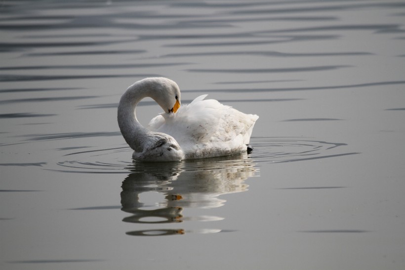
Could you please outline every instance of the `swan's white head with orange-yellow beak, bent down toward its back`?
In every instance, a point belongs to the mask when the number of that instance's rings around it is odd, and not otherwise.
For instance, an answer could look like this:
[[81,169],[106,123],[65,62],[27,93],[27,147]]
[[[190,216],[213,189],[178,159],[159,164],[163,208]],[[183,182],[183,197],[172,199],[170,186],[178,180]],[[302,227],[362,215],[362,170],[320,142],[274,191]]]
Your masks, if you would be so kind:
[[180,89],[175,82],[167,78],[146,78],[150,96],[166,113],[175,113],[180,107]]

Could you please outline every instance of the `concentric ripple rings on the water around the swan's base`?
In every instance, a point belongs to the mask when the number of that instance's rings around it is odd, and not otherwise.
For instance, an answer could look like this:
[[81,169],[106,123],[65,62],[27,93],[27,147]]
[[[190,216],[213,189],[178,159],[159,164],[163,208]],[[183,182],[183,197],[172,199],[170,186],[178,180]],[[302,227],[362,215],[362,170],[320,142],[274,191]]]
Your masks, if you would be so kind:
[[[228,167],[230,163],[232,166],[238,166],[239,163],[243,164],[246,160],[253,163],[283,163],[358,154],[357,152],[345,152],[344,146],[347,145],[345,143],[302,137],[252,137],[250,143],[254,148],[251,154],[170,162],[170,167],[172,170],[179,171],[210,170],[218,169],[221,166]],[[57,162],[57,168],[53,170],[66,173],[125,174],[128,171],[137,172],[156,168],[156,163],[132,161],[132,149],[128,146],[85,149],[83,151],[67,149],[67,153],[61,157],[62,160]]]

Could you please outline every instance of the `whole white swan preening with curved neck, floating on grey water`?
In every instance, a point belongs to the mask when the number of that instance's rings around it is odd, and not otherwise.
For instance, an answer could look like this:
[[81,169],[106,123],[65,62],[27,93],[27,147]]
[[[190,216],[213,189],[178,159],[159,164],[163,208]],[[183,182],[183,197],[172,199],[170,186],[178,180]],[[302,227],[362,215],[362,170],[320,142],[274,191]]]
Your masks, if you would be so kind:
[[[180,90],[167,78],[146,78],[129,86],[118,105],[118,125],[139,161],[179,161],[226,156],[247,150],[257,115],[244,114],[201,95],[181,106]],[[136,119],[135,107],[153,98],[164,113],[147,128]]]

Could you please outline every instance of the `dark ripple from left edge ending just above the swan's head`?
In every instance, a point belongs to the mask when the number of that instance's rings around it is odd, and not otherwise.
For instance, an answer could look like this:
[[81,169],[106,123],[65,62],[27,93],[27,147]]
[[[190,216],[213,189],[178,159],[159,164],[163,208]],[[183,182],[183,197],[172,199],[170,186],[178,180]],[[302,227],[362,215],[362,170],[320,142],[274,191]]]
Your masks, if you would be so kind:
[[0,75],[0,82],[29,82],[51,80],[107,79],[107,78],[162,77],[157,74],[106,74],[106,75]]

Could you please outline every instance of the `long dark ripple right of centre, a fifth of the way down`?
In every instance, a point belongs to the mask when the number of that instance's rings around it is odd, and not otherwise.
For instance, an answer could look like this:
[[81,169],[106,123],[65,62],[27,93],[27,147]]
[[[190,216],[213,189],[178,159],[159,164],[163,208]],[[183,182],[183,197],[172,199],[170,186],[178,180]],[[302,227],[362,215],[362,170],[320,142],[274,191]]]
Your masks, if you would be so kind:
[[195,52],[195,53],[170,53],[160,55],[163,57],[196,57],[196,56],[226,56],[226,55],[258,55],[258,56],[271,56],[271,57],[324,57],[324,56],[357,56],[357,55],[372,55],[370,52],[314,52],[314,53],[287,53],[279,51],[256,51],[256,50],[242,50],[242,51],[210,51],[210,52]]

